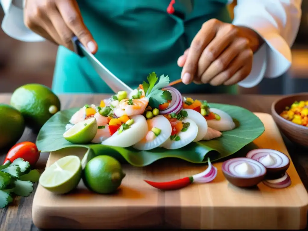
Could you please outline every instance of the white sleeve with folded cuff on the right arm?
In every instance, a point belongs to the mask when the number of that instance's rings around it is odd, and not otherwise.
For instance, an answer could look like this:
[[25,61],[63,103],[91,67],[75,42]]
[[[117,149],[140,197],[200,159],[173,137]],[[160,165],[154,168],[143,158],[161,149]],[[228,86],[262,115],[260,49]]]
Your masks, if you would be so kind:
[[263,77],[276,78],[290,68],[301,5],[302,0],[237,0],[232,24],[255,30],[265,41],[253,56],[250,75],[239,86],[254,87]]

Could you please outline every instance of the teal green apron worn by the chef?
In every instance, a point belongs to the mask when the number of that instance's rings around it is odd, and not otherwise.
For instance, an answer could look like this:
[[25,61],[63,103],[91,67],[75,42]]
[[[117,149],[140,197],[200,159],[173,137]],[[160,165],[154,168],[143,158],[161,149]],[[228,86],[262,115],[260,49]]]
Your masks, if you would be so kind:
[[[186,0],[192,4],[193,0]],[[148,74],[180,79],[177,59],[189,47],[202,23],[211,18],[231,22],[227,0],[194,0],[192,12],[176,0],[177,14],[168,14],[170,0],[78,0],[83,20],[98,43],[95,57],[115,76],[136,88]],[[192,5],[191,5],[192,6]],[[186,5],[187,7],[187,5]],[[235,94],[237,86],[179,83],[182,93]],[[87,59],[60,46],[52,89],[63,93],[113,93]]]

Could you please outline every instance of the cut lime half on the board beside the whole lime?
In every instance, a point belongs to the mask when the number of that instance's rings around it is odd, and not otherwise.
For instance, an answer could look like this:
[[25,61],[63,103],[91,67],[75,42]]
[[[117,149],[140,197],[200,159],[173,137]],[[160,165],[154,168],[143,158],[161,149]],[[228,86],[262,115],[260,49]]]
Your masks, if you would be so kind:
[[65,156],[45,169],[39,178],[39,183],[53,193],[68,193],[77,187],[81,173],[79,157]]

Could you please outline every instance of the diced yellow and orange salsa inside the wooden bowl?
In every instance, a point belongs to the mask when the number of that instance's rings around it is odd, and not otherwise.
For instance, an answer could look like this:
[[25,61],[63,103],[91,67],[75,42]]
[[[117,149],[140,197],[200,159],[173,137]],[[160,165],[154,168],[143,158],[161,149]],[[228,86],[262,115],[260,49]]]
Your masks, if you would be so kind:
[[280,116],[294,124],[308,127],[308,100],[295,101],[291,107],[286,107],[286,110],[282,111]]

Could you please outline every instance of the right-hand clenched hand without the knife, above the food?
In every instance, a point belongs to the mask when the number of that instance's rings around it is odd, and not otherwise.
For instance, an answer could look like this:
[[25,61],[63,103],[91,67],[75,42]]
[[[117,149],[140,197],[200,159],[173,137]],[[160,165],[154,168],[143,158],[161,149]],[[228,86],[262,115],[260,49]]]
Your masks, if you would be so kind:
[[232,85],[245,79],[263,41],[253,30],[211,19],[178,59],[184,84]]

